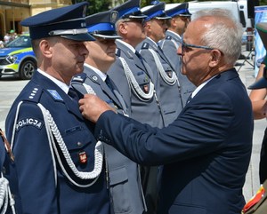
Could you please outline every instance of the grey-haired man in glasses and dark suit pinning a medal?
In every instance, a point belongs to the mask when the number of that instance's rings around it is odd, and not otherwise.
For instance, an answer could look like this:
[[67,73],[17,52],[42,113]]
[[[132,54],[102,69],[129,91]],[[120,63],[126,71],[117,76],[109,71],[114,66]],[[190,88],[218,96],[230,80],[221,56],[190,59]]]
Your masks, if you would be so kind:
[[136,162],[164,164],[160,214],[239,214],[250,161],[253,114],[234,68],[243,30],[225,10],[198,12],[178,53],[182,73],[197,89],[174,123],[163,129],[117,115],[87,95],[82,114],[97,122],[94,135]]

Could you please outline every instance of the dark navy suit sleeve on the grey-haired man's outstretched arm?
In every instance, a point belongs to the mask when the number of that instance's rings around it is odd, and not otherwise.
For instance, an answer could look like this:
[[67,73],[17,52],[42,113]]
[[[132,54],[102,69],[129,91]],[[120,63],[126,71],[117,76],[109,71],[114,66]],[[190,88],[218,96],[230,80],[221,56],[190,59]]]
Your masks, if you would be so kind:
[[95,134],[135,162],[158,165],[217,151],[233,119],[231,99],[219,91],[192,99],[174,123],[161,130],[106,112]]

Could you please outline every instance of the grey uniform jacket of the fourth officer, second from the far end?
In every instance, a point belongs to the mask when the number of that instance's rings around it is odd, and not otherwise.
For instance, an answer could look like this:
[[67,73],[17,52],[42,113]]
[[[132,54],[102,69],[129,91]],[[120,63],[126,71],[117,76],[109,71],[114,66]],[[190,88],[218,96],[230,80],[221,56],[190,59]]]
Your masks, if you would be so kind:
[[157,53],[160,63],[166,73],[175,73],[174,67],[172,67],[171,63],[168,61],[168,59],[166,59],[165,54],[158,49],[158,45],[149,37],[143,40],[141,44],[138,44],[136,50],[142,54],[142,57],[146,60],[146,62],[150,65],[151,70],[154,72],[155,78],[157,78],[157,80],[154,80],[154,83],[156,86],[156,91],[159,92],[158,99],[160,100],[162,112],[164,114],[164,123],[165,126],[167,126],[168,124],[172,123],[182,111],[183,105],[181,87],[178,81],[171,85],[163,80],[161,75],[158,73],[158,66],[155,63],[155,59],[150,50],[153,50]]

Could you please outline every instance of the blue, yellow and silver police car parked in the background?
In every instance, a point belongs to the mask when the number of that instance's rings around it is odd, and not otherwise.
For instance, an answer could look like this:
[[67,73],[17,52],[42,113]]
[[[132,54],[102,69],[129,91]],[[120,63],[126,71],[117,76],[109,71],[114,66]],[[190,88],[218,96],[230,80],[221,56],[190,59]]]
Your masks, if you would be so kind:
[[13,75],[28,80],[36,70],[36,56],[28,34],[23,34],[0,49],[0,76]]

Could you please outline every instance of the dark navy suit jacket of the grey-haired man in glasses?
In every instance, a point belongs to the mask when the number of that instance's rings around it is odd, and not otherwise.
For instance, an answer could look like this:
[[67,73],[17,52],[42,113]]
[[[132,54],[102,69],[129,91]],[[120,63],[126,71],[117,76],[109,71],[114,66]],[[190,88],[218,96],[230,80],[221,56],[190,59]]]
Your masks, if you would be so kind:
[[164,164],[158,213],[239,214],[253,124],[247,90],[232,68],[206,83],[166,128],[108,111],[95,136],[136,162]]

